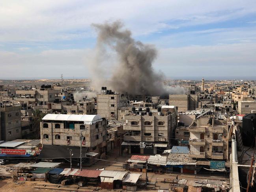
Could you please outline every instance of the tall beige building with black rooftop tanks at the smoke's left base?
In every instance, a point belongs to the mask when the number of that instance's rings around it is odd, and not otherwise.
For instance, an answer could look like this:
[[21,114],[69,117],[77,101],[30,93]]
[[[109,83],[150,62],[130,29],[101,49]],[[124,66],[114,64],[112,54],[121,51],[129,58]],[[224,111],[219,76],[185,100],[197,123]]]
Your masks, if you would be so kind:
[[97,114],[107,119],[118,120],[118,108],[127,106],[127,97],[116,94],[106,87],[102,87],[101,94],[97,94]]

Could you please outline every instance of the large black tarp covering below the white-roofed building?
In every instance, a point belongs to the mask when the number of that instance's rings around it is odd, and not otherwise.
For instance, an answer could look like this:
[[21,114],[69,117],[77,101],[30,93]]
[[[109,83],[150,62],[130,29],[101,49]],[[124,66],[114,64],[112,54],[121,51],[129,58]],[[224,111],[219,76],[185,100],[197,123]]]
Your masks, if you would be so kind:
[[[82,157],[86,157],[86,148],[82,147]],[[37,158],[41,159],[64,159],[70,158],[69,149],[72,149],[72,158],[80,158],[80,147],[63,145],[43,145],[42,151]]]

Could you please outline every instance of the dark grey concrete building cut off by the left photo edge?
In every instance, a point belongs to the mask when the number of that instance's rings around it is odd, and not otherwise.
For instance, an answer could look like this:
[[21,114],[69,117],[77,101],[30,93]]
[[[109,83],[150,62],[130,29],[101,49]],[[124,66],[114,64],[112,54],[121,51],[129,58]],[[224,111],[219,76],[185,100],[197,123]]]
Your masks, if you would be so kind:
[[21,138],[21,106],[1,103],[1,140],[11,141]]

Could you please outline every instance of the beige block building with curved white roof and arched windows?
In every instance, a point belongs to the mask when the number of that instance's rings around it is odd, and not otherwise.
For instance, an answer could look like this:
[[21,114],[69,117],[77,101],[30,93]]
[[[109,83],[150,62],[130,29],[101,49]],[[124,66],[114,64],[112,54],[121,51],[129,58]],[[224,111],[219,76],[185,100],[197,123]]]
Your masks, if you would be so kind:
[[80,146],[90,152],[105,153],[107,120],[100,115],[47,114],[41,121],[41,143],[46,145]]

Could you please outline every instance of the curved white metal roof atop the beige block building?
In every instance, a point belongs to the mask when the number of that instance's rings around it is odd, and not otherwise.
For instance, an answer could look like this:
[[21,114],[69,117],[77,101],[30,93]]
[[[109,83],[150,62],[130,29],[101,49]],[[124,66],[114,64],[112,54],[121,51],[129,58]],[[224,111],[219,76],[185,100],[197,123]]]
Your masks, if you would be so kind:
[[53,121],[84,121],[86,125],[92,125],[98,121],[102,121],[102,117],[97,115],[68,115],[68,114],[47,114],[42,120]]

